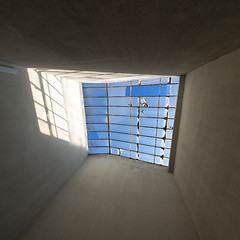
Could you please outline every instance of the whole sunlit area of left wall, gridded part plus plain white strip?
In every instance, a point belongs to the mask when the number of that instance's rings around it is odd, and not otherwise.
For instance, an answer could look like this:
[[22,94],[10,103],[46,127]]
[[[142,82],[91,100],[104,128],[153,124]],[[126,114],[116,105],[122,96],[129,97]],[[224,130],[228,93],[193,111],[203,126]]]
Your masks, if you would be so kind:
[[87,148],[81,85],[33,69],[28,75],[40,132]]

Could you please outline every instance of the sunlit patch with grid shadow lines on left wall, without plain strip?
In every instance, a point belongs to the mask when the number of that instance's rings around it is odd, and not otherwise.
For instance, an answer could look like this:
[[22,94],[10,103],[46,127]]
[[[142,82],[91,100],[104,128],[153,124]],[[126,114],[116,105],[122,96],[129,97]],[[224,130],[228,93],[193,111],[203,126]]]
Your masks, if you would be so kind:
[[32,69],[28,75],[40,132],[70,142],[60,78]]

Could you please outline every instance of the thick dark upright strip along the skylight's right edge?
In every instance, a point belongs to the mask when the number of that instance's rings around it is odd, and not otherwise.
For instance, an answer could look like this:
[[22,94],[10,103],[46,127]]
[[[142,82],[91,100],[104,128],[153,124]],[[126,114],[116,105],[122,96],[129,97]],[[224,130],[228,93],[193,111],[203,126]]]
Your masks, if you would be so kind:
[[174,165],[175,165],[177,141],[178,141],[179,127],[180,127],[180,120],[181,120],[181,113],[182,113],[183,94],[184,94],[184,87],[185,87],[185,78],[186,78],[185,75],[180,76],[179,87],[178,87],[177,106],[176,106],[176,113],[175,113],[175,120],[174,120],[174,131],[173,131],[173,137],[172,137],[172,145],[171,145],[169,169],[168,169],[170,173],[173,173]]

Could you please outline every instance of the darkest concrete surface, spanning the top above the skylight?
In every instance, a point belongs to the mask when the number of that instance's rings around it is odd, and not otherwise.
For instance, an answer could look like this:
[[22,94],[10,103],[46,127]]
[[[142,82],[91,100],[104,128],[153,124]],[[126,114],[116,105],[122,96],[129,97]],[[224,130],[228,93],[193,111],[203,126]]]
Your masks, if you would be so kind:
[[240,1],[9,0],[0,59],[34,68],[183,74],[240,46]]

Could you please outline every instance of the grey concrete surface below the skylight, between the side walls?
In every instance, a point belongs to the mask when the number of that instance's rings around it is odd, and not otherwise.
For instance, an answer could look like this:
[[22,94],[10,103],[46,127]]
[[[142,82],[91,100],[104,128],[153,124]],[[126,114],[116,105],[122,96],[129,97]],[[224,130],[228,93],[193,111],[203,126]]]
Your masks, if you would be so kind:
[[197,240],[172,174],[148,163],[90,156],[21,240]]

